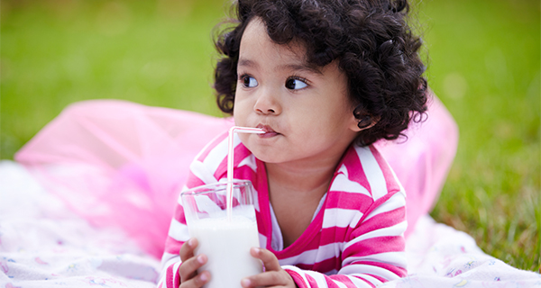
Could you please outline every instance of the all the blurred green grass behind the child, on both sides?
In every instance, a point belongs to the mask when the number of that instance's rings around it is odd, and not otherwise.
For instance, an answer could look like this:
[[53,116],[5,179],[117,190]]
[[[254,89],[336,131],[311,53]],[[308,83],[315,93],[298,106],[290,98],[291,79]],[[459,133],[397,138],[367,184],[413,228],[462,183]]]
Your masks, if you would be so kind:
[[[540,9],[536,0],[416,5],[432,89],[460,144],[432,216],[488,254],[539,271]],[[116,98],[220,115],[217,0],[2,1],[0,158],[69,103]]]

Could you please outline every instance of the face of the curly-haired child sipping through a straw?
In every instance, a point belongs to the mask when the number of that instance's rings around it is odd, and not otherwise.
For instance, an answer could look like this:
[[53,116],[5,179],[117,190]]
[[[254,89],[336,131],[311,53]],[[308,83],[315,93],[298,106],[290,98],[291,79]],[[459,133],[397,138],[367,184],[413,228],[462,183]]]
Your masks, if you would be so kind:
[[335,62],[307,67],[304,54],[302,45],[272,42],[257,18],[243,33],[234,121],[268,131],[239,134],[244,146],[264,162],[337,161],[359,131],[347,77]]

